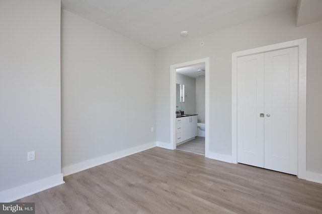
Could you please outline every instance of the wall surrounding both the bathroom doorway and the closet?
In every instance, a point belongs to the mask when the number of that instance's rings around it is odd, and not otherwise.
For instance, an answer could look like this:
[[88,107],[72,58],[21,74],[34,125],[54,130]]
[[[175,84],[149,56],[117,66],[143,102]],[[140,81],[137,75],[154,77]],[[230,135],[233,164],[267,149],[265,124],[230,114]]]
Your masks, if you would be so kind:
[[322,22],[296,28],[295,14],[274,14],[157,51],[156,140],[170,143],[170,65],[209,57],[209,150],[231,155],[231,53],[307,38],[307,170],[322,173]]

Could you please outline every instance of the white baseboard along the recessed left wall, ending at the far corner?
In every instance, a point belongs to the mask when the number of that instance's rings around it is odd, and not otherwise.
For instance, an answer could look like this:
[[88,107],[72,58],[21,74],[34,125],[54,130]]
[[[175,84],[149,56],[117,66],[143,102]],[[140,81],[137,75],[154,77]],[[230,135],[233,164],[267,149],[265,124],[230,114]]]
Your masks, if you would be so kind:
[[135,146],[135,147],[128,148],[128,149],[125,149],[122,151],[114,152],[111,154],[103,155],[103,156],[96,157],[96,158],[93,158],[90,160],[86,160],[83,162],[79,162],[79,163],[65,166],[61,169],[61,171],[64,176],[67,176],[67,175],[70,175],[70,174],[73,174],[73,173],[76,173],[79,171],[83,171],[85,169],[92,168],[94,166],[101,165],[103,163],[107,163],[107,162],[110,162],[110,161],[113,161],[113,160],[116,160],[116,159],[119,159],[122,157],[126,157],[128,155],[131,155],[131,154],[134,154],[134,153],[146,150],[146,149],[153,148],[153,147],[155,147],[155,145],[156,145],[155,142],[151,142],[151,143],[146,143],[143,145]]

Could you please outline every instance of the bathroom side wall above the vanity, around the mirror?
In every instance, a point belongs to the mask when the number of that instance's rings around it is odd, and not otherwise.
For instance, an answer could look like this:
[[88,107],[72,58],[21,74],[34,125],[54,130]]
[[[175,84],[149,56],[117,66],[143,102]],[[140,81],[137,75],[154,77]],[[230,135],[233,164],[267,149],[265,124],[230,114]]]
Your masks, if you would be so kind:
[[186,114],[196,113],[196,79],[182,74],[176,74],[176,83],[185,85],[185,102],[181,110]]

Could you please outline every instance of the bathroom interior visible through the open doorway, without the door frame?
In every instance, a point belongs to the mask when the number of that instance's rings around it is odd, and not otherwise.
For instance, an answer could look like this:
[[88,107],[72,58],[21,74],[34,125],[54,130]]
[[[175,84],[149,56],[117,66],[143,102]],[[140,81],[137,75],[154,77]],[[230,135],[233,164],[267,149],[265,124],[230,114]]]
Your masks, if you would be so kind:
[[[205,64],[199,64],[176,69],[176,112],[183,117],[189,116],[190,129],[189,139],[176,141],[178,150],[205,154]],[[193,119],[193,118],[196,119]],[[176,136],[178,130],[182,130],[181,120],[176,124]],[[179,126],[178,126],[179,125]],[[179,133],[177,138],[181,138]]]

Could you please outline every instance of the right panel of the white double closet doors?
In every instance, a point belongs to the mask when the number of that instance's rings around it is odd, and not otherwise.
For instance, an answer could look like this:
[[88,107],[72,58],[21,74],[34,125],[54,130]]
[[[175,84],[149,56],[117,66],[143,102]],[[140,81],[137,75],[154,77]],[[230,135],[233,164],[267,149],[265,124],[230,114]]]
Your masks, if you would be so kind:
[[265,53],[264,167],[297,174],[298,48]]

